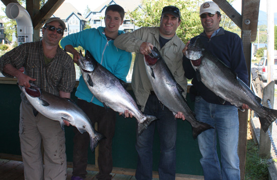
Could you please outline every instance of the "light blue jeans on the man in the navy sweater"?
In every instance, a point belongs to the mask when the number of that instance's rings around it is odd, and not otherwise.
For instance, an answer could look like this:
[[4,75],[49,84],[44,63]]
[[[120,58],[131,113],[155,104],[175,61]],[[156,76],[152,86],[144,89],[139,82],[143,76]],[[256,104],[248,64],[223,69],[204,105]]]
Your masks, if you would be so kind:
[[[200,163],[205,180],[240,179],[238,138],[239,118],[235,106],[207,103],[201,97],[195,99],[195,114],[198,121],[212,125],[198,135],[202,155]],[[221,150],[221,166],[217,154],[217,134]]]

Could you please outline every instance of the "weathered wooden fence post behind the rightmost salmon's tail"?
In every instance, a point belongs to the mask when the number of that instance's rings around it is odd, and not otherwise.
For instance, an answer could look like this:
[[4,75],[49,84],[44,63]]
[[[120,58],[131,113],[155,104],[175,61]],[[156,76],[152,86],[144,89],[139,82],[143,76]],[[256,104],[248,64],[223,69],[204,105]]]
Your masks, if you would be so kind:
[[[264,107],[268,107],[267,100],[270,101],[271,106],[274,105],[274,85],[275,81],[271,81],[263,88],[263,98],[262,98],[262,105]],[[272,125],[269,126],[270,133],[272,132]],[[260,141],[259,141],[259,155],[261,157],[268,157],[270,155],[271,149],[271,142],[268,136],[268,133],[263,132],[260,128]]]

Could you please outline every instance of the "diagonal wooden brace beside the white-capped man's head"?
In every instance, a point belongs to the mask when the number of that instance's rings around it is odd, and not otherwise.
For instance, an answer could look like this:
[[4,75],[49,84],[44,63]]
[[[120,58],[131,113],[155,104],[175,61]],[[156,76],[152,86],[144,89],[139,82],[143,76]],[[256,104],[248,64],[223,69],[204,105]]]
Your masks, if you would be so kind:
[[242,16],[226,0],[213,1],[240,29],[242,29]]

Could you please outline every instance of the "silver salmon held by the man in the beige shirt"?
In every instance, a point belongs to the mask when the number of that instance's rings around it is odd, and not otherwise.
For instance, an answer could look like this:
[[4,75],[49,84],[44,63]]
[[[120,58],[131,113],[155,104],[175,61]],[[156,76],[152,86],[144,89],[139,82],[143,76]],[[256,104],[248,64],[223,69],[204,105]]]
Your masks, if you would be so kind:
[[182,96],[184,89],[176,82],[171,71],[156,47],[152,54],[145,55],[145,67],[153,90],[159,99],[175,115],[182,112],[185,119],[192,126],[192,137],[196,137],[203,131],[213,128],[211,125],[202,123],[195,119],[195,114],[189,108],[185,98]]

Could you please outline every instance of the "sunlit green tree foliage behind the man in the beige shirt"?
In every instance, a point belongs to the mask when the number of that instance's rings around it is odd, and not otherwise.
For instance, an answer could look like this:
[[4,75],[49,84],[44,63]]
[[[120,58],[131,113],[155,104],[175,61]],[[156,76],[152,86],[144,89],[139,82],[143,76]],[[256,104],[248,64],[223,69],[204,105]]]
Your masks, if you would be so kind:
[[[229,0],[232,3],[234,0]],[[128,15],[134,20],[134,24],[138,27],[159,27],[163,7],[174,5],[181,11],[181,23],[178,27],[177,36],[186,43],[189,39],[200,34],[203,31],[200,18],[199,8],[204,0],[143,0],[142,6]],[[232,21],[221,11],[221,26],[227,29],[231,28]]]

